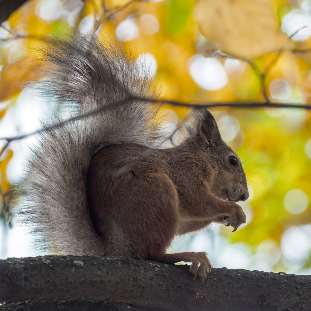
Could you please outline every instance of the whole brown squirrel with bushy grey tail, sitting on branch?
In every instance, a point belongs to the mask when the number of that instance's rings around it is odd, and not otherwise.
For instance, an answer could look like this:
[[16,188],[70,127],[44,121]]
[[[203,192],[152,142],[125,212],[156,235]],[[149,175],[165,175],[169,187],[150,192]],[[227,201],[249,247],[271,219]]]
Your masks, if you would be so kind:
[[[233,231],[246,222],[235,203],[248,198],[241,160],[202,108],[178,146],[159,148],[154,81],[108,41],[73,35],[46,52],[40,89],[73,118],[39,139],[17,190],[24,220],[54,254],[185,261],[205,279],[212,268],[206,253],[166,250],[176,235],[212,222]],[[55,114],[49,122],[62,121]]]

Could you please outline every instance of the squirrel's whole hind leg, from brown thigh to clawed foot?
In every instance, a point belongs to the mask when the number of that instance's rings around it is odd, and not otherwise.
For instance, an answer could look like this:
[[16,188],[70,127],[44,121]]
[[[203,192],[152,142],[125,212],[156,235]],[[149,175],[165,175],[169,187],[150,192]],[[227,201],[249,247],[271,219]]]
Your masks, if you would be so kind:
[[190,273],[204,279],[211,271],[206,253],[165,253],[178,231],[179,201],[169,177],[154,169],[156,172],[132,169],[123,181],[119,179],[114,197],[122,208],[109,223],[124,219],[122,227],[133,256],[164,263],[192,262]]

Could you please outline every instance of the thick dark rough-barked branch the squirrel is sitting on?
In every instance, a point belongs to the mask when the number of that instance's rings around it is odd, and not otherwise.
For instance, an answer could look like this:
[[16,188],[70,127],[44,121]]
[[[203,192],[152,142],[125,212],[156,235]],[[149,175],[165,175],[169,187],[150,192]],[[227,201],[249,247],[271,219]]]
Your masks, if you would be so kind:
[[311,276],[217,268],[202,282],[187,266],[131,258],[8,258],[0,301],[1,310],[301,311],[311,310]]

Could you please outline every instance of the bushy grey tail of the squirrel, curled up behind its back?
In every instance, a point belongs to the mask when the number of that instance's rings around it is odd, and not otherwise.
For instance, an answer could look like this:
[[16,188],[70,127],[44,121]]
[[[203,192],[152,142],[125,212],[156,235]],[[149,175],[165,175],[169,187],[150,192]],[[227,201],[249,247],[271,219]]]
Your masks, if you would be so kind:
[[49,48],[49,75],[40,82],[41,90],[72,115],[104,110],[46,131],[19,191],[49,251],[102,255],[103,240],[87,209],[85,175],[101,146],[155,144],[160,135],[157,108],[132,100],[150,96],[152,81],[143,80],[134,61],[111,41],[75,36]]

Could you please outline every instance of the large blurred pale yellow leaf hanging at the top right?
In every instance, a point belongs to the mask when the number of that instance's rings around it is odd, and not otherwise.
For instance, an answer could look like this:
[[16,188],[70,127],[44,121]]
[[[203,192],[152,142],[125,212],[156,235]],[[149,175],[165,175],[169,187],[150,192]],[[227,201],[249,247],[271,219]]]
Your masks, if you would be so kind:
[[202,34],[227,54],[252,58],[289,45],[278,30],[271,0],[199,0]]

